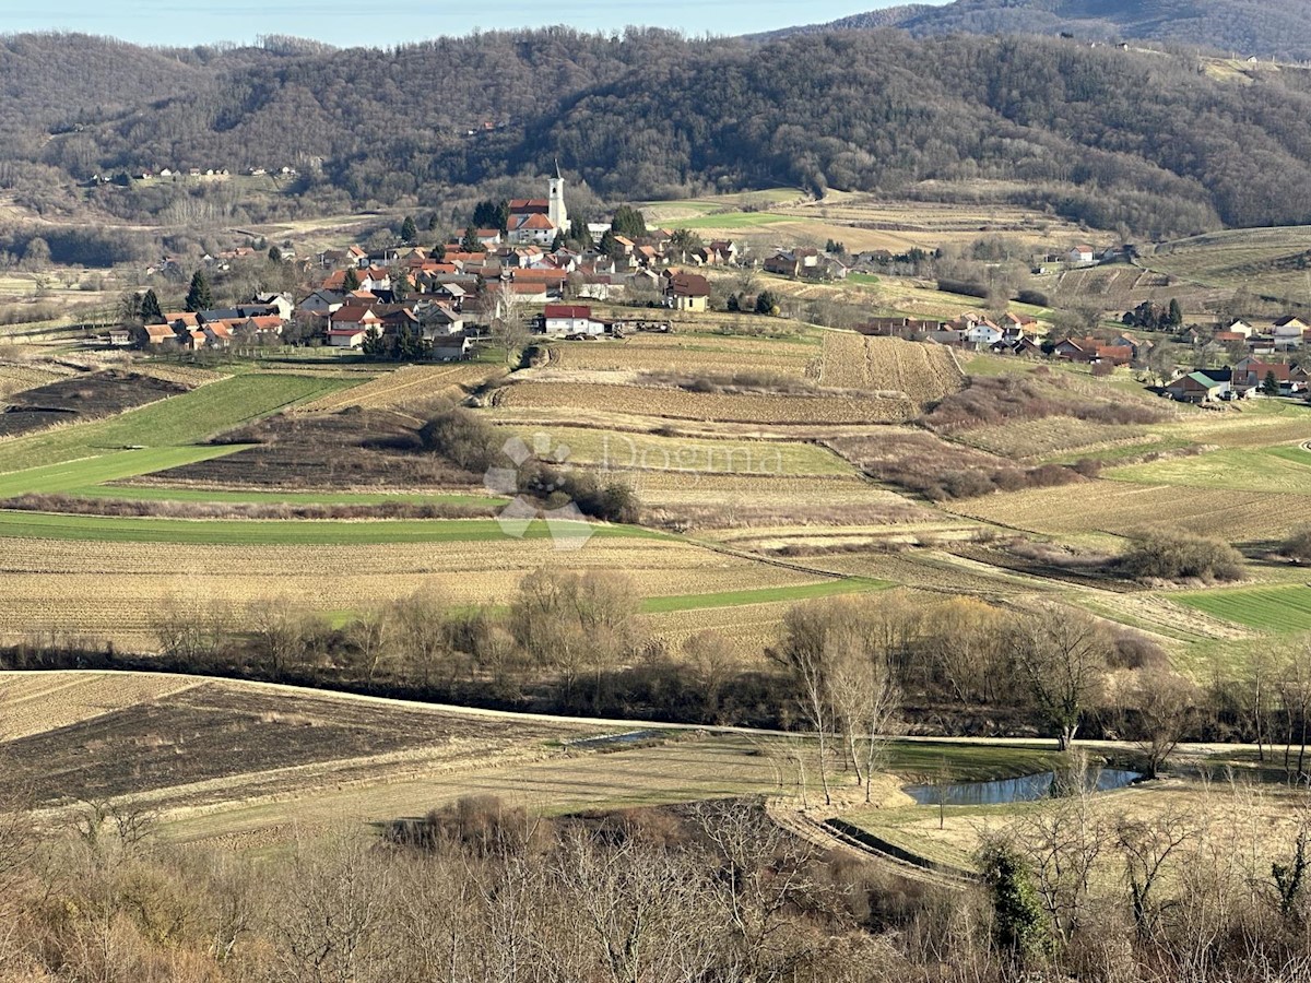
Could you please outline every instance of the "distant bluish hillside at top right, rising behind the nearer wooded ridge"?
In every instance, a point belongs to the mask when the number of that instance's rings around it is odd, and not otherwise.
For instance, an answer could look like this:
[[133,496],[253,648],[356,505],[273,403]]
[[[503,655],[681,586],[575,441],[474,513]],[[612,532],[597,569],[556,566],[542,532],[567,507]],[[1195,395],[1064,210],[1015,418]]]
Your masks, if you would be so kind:
[[[956,0],[907,4],[801,31],[902,28],[929,34],[1074,34],[1088,41],[1143,39],[1242,55],[1306,60],[1306,0]],[[777,31],[779,35],[796,31]]]

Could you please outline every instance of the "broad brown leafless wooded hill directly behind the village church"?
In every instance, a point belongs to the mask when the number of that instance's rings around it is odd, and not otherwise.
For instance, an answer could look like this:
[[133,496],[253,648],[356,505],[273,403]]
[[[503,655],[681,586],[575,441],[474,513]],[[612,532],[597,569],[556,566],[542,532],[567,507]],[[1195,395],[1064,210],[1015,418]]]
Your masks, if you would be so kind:
[[[20,35],[0,42],[0,189],[50,218],[437,207],[523,193],[558,159],[583,211],[579,178],[608,201],[779,183],[988,194],[1142,236],[1311,222],[1311,72],[1214,79],[1189,56],[1058,38],[557,28],[160,51]],[[75,186],[286,165],[298,176],[260,198],[239,182]]]

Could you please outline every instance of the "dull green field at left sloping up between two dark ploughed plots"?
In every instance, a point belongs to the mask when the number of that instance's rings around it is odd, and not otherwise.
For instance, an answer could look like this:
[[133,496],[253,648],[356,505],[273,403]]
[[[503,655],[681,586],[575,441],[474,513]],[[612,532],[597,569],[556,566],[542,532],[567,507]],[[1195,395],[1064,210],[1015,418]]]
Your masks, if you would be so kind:
[[0,472],[93,457],[125,447],[195,444],[246,421],[357,384],[358,380],[299,375],[239,375],[110,419],[73,423],[0,443]]

